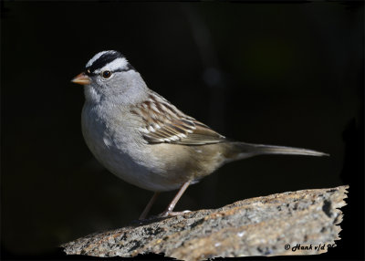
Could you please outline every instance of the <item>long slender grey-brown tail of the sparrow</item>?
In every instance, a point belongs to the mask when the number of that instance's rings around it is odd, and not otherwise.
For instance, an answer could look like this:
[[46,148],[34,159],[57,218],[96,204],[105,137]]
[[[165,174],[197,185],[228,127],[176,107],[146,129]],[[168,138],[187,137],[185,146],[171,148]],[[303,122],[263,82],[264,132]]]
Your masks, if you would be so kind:
[[263,144],[252,144],[245,142],[232,142],[231,145],[235,147],[235,156],[232,155],[232,160],[240,160],[256,155],[264,154],[285,154],[285,155],[305,155],[305,156],[329,156],[329,154],[313,151],[308,149],[274,146],[274,145],[263,145]]

